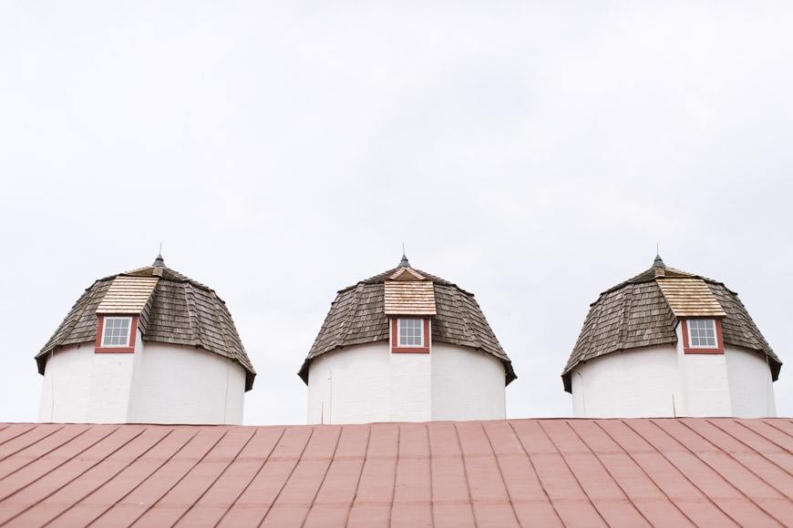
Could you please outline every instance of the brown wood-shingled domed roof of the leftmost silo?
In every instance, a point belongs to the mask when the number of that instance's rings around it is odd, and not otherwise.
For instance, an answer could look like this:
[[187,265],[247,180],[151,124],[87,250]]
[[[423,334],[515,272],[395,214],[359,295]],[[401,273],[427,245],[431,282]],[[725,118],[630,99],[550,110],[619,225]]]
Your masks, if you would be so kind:
[[[133,290],[136,280],[148,284],[148,289]],[[149,267],[98,279],[86,289],[44,348],[36,354],[39,373],[44,374],[51,350],[97,339],[99,305],[103,301],[104,304],[118,305],[118,299],[111,300],[108,296],[114,282],[117,290],[118,283],[123,282],[121,288],[138,294],[138,299],[133,300],[139,300],[139,330],[144,341],[194,346],[235,360],[246,372],[245,391],[252,389],[256,371],[245,353],[226,303],[213,289],[166,268],[161,256]],[[139,295],[141,290],[144,291],[143,297]]]

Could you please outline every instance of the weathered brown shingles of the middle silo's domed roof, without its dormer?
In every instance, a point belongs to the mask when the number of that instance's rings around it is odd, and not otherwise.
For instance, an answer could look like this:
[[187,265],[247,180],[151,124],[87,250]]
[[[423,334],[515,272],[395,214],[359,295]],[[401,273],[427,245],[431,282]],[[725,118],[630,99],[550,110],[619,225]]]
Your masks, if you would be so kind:
[[517,378],[510,358],[501,349],[499,340],[474,299],[474,294],[448,280],[411,268],[407,258],[403,256],[397,268],[388,269],[338,291],[322,329],[319,330],[314,345],[298,372],[305,383],[308,383],[308,367],[311,361],[325,352],[388,340],[386,282],[390,282],[401,270],[417,273],[432,283],[437,312],[432,319],[433,342],[483,350],[504,364],[505,384],[509,385]]

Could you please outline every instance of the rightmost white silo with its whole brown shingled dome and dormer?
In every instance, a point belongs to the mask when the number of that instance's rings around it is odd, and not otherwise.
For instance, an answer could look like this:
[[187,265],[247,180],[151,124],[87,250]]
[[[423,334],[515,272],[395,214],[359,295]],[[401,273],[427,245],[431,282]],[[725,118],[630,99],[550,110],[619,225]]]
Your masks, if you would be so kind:
[[750,418],[781,366],[736,292],[656,256],[592,303],[561,379],[576,417]]

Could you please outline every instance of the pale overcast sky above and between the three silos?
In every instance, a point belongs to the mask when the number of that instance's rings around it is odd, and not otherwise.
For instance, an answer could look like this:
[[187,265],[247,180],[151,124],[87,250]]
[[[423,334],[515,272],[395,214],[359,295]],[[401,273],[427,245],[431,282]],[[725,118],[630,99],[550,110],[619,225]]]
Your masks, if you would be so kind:
[[789,2],[0,0],[0,421],[94,280],[215,289],[258,376],[245,423],[304,423],[337,289],[397,265],[476,294],[518,380],[561,370],[599,293],[652,265],[723,281],[786,364]]

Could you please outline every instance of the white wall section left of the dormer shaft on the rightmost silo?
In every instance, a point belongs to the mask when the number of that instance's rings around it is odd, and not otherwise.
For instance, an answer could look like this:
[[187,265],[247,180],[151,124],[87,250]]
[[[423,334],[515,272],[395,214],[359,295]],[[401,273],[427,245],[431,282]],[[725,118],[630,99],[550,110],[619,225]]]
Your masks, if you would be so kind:
[[576,418],[677,415],[680,388],[674,345],[633,349],[589,360],[571,376]]

